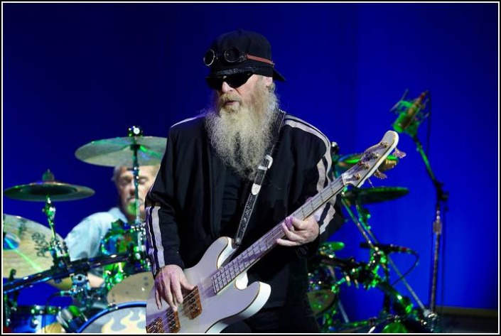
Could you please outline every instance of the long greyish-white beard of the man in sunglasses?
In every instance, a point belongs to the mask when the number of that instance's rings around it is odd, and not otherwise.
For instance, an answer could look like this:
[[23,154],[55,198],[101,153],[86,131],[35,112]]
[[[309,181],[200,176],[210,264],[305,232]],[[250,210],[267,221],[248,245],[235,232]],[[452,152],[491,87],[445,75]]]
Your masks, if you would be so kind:
[[254,179],[273,137],[271,121],[278,106],[274,85],[269,90],[258,83],[251,101],[251,106],[241,102],[237,108],[210,109],[205,123],[212,146],[222,161],[249,180]]

